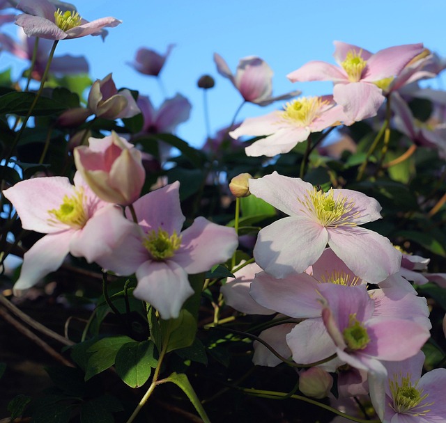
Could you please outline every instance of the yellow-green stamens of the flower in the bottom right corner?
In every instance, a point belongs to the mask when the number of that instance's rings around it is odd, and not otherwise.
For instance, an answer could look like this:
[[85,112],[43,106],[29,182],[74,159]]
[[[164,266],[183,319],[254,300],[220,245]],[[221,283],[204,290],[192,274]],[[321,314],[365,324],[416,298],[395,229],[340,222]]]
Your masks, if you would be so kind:
[[389,380],[390,392],[392,393],[393,404],[389,404],[397,413],[406,413],[413,416],[424,416],[434,404],[432,402],[424,402],[429,394],[423,394],[423,390],[417,388],[418,382],[412,383],[410,375],[401,376],[401,382],[398,381],[398,375],[394,374],[393,381]]

